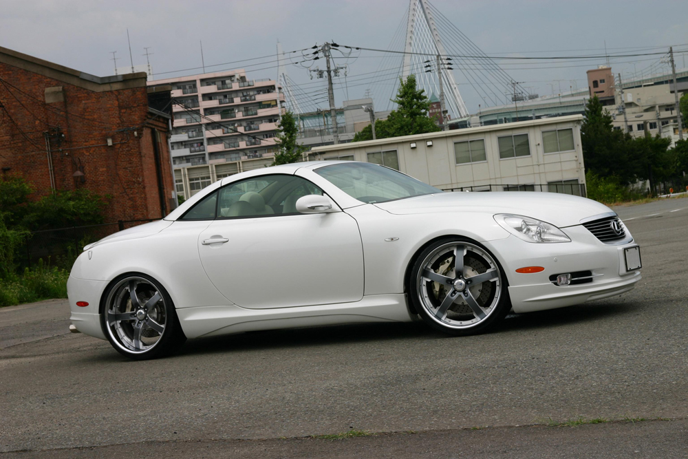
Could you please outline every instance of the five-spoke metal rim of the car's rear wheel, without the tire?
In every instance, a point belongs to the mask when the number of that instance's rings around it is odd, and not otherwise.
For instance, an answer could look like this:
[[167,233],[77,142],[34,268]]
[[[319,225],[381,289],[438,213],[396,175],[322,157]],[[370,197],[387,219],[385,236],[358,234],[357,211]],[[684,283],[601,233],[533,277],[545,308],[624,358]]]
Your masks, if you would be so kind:
[[155,348],[169,323],[168,316],[160,288],[143,277],[121,279],[105,303],[105,328],[111,341],[127,353]]

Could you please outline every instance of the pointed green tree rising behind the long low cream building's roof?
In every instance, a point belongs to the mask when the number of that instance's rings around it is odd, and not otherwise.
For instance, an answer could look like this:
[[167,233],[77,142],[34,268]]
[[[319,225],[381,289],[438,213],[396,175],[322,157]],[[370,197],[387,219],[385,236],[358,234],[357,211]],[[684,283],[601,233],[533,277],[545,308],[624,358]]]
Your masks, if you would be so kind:
[[[413,136],[440,130],[435,120],[428,116],[430,101],[425,95],[425,90],[418,89],[415,75],[409,75],[406,81],[399,78],[399,90],[392,102],[396,103],[396,110],[391,111],[387,120],[375,122],[376,138]],[[356,133],[353,141],[372,140],[372,138],[372,128],[368,125]]]

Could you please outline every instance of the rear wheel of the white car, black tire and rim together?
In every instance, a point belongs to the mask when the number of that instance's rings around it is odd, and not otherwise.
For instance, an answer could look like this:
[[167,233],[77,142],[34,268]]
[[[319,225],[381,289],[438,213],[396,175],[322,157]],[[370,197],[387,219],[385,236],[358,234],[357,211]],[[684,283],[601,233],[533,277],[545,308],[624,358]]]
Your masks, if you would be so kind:
[[113,348],[134,360],[156,359],[186,341],[167,290],[140,273],[115,279],[105,290],[100,324]]

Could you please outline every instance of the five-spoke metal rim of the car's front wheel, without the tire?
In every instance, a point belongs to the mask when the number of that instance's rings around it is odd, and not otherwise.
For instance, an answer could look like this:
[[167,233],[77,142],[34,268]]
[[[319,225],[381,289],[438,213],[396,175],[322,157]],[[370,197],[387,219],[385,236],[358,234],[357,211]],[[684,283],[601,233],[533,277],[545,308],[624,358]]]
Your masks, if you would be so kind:
[[416,274],[425,316],[442,328],[475,328],[495,314],[502,274],[493,257],[470,242],[447,242],[428,253]]

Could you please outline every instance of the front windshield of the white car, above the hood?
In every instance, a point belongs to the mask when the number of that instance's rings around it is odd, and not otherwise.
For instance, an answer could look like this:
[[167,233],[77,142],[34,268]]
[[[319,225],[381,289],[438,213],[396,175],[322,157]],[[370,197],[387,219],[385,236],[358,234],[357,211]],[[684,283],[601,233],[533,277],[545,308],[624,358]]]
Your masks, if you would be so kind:
[[352,198],[368,204],[442,193],[442,190],[434,186],[378,164],[365,162],[332,164],[332,166],[315,169],[315,173]]

